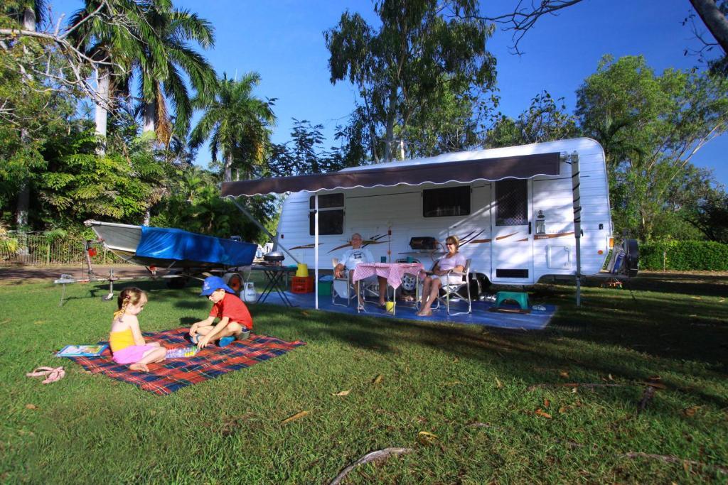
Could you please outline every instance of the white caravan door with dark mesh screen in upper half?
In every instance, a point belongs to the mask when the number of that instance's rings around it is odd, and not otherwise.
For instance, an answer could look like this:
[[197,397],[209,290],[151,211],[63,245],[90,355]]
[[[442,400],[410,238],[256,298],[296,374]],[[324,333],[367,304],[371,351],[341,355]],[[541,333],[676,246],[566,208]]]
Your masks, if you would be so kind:
[[491,281],[531,283],[534,273],[531,181],[506,179],[493,186]]

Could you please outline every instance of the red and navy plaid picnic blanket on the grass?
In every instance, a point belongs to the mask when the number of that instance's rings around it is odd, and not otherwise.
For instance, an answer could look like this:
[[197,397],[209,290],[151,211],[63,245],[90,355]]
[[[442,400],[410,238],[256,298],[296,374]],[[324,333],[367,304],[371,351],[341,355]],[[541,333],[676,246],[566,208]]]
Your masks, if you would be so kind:
[[[159,342],[166,348],[178,348],[190,345],[188,331],[187,328],[179,328],[164,332],[144,332],[144,337],[149,341]],[[226,347],[211,344],[194,357],[173,358],[159,364],[149,364],[149,372],[130,371],[129,366],[116,364],[111,360],[111,351],[108,349],[98,357],[69,358],[93,374],[106,374],[112,379],[129,382],[143,390],[165,396],[187,385],[281,356],[300,345],[306,345],[306,342],[286,342],[266,335],[250,334],[250,339],[236,340]]]

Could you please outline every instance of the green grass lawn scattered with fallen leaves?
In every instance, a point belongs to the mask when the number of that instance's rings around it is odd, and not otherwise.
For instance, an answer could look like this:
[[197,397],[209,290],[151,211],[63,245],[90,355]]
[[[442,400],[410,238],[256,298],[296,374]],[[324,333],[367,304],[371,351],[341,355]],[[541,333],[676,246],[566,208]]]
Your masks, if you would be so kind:
[[[199,288],[139,286],[145,331],[209,310]],[[0,284],[0,482],[328,483],[394,446],[412,451],[345,481],[726,482],[728,276],[634,286],[587,287],[581,308],[538,286],[559,307],[543,332],[251,305],[256,333],[307,345],[159,397],[52,356],[106,338],[106,286],[70,285],[59,308],[57,286]],[[25,377],[49,365],[66,377]]]

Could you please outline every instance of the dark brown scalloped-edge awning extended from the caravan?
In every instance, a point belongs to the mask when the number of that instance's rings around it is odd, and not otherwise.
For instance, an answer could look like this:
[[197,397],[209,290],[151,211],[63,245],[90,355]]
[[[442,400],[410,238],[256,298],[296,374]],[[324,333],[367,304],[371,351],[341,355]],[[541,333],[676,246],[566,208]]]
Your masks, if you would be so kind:
[[256,196],[339,188],[392,187],[395,185],[471,183],[476,180],[529,179],[537,175],[559,175],[560,153],[508,156],[496,159],[395,164],[328,174],[272,177],[223,183],[223,197]]

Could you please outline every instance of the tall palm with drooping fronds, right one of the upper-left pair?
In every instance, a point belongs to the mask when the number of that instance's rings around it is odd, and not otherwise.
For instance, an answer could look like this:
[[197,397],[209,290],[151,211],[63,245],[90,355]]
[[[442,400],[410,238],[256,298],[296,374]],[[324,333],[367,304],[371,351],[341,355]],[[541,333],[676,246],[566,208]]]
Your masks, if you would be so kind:
[[[189,77],[197,92],[213,88],[217,81],[212,66],[186,43],[195,41],[203,49],[213,47],[213,26],[188,10],[173,9],[169,0],[159,0],[149,8],[146,21],[159,39],[144,49],[144,56],[134,65],[141,79],[143,131],[156,131],[157,140],[167,145],[172,124],[165,95],[175,106],[175,131],[186,135],[192,105],[182,74]],[[154,52],[155,48],[161,52]]]

